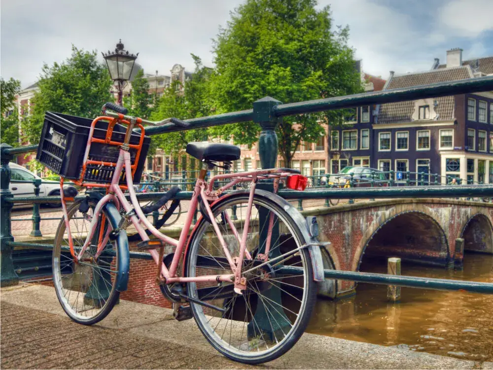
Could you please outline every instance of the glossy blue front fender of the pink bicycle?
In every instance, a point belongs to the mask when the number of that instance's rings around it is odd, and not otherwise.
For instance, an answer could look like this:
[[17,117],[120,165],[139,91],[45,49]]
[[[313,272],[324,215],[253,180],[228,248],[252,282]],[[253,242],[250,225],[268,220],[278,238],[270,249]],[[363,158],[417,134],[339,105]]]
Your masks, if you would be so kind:
[[[103,198],[103,194],[98,191],[88,191],[87,194],[91,200],[96,203]],[[113,202],[106,203],[103,208],[106,210],[106,215],[108,221],[111,223],[111,227],[115,229],[118,227],[121,215],[118,212],[115,204]],[[118,236],[116,237],[116,248],[118,248],[118,273],[116,274],[116,290],[118,292],[123,292],[127,290],[128,277],[130,271],[130,254],[128,247],[127,232],[125,230],[120,230]]]

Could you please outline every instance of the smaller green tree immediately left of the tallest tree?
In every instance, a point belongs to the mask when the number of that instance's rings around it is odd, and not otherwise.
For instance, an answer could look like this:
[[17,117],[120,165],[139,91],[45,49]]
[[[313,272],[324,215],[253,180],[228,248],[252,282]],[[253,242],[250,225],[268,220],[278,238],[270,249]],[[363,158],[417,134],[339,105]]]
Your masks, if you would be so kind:
[[[212,70],[204,67],[198,56],[191,55],[194,59],[195,70],[190,80],[185,83],[183,93],[177,92],[181,87],[180,82],[173,81],[164,91],[156,110],[151,114],[153,120],[167,117],[187,119],[211,114],[212,100],[209,77]],[[207,136],[207,129],[197,129],[154,136],[152,140],[166,153],[172,154],[183,150],[189,142],[207,140]]]

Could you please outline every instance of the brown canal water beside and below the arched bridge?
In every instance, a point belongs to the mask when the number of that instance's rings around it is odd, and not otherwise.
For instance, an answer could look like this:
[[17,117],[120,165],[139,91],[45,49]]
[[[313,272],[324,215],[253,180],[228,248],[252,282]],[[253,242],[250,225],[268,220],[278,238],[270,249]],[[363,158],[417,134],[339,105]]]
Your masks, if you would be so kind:
[[[387,262],[364,260],[361,271],[387,273]],[[466,253],[463,270],[403,261],[402,275],[493,283],[493,256]],[[319,298],[307,332],[493,361],[493,295],[401,288],[400,303],[388,303],[387,286],[359,283],[350,298]]]

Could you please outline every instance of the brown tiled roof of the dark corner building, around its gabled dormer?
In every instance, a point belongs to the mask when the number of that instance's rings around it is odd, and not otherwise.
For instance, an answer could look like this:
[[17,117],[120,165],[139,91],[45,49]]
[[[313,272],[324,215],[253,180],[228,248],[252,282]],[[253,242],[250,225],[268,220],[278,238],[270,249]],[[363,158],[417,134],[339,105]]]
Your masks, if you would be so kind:
[[[427,85],[437,82],[455,81],[471,77],[471,70],[468,66],[393,75],[390,77],[386,90]],[[438,105],[436,106],[435,111],[439,115],[440,120],[454,119],[454,97],[444,96],[436,98],[436,100]],[[378,112],[377,123],[411,122],[411,117],[414,113],[414,106],[414,100],[382,104]]]

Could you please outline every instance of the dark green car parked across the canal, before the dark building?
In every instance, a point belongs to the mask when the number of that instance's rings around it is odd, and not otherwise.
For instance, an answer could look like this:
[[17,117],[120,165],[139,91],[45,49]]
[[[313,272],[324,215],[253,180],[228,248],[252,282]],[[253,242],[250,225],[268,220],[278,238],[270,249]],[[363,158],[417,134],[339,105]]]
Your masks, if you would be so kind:
[[384,172],[375,168],[352,166],[346,166],[339,173],[330,175],[329,185],[342,187],[350,184],[352,180],[352,186],[354,187],[369,187],[372,186],[372,179],[373,186],[388,186],[387,177]]

